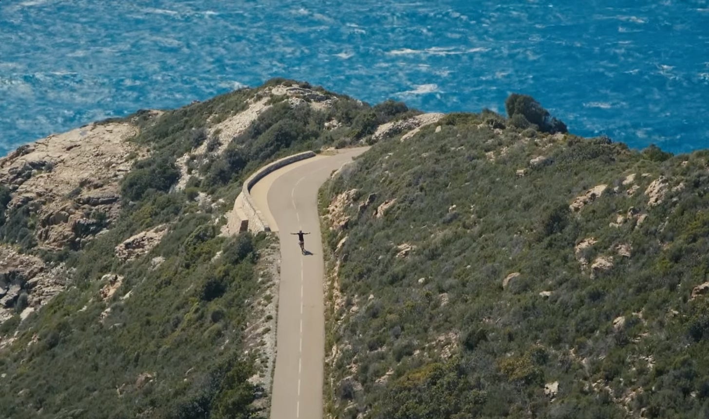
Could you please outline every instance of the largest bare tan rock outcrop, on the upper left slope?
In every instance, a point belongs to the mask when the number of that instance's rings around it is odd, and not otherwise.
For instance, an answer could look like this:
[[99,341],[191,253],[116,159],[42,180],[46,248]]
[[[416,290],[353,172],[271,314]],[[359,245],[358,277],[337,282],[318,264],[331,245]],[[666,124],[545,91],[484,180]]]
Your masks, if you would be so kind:
[[119,181],[143,153],[130,123],[92,123],[23,145],[0,159],[0,184],[12,191],[9,212],[38,220],[40,247],[79,247],[120,210]]

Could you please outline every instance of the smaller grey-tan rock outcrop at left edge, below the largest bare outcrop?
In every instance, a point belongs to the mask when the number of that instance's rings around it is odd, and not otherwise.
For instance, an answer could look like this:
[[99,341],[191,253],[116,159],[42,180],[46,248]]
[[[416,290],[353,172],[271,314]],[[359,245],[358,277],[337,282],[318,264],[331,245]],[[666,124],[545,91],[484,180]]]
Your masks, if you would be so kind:
[[63,265],[50,267],[38,257],[0,245],[0,323],[16,312],[44,306],[66,282]]

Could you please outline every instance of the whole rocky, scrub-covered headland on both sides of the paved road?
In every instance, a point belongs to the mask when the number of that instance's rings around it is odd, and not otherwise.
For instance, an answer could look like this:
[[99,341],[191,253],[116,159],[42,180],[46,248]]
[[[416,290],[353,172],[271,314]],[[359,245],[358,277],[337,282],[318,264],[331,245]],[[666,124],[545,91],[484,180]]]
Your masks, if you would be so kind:
[[0,413],[269,414],[279,257],[242,182],[367,143],[320,191],[333,418],[709,414],[709,152],[579,138],[528,96],[370,106],[274,79],[0,159]]

